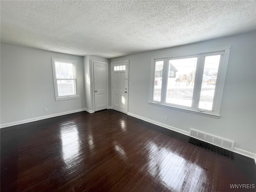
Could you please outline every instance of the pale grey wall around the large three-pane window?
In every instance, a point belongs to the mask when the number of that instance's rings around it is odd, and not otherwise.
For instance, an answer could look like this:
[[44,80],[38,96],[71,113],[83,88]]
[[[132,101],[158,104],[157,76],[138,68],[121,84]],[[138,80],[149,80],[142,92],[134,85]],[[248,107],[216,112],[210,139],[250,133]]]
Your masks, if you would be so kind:
[[[148,104],[151,57],[232,46],[219,119]],[[130,60],[128,112],[182,131],[201,130],[235,141],[256,153],[256,32],[155,50],[120,58]],[[168,121],[164,120],[168,116]]]

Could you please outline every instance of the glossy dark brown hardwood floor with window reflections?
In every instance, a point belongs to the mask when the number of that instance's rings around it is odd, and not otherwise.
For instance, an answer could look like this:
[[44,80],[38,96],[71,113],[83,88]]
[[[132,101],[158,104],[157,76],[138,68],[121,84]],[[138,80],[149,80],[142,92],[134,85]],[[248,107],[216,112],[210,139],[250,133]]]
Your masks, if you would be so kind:
[[230,189],[256,184],[253,159],[188,140],[114,110],[2,128],[1,191],[255,191]]

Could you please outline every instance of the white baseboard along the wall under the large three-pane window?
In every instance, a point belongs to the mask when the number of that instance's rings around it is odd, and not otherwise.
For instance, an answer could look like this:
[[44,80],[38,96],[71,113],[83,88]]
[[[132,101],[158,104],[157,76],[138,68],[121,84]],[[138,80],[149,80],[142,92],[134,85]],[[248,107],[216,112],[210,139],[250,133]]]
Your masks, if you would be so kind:
[[[178,132],[178,133],[190,136],[188,131],[184,131],[184,130],[181,130],[179,128],[175,128],[175,127],[172,127],[172,126],[169,126],[169,125],[166,125],[166,124],[163,124],[163,123],[160,123],[160,122],[148,119],[148,118],[144,118],[144,117],[138,116],[136,114],[128,113],[128,115],[132,116],[132,117],[135,117],[135,118],[138,118],[138,119],[141,119],[141,120],[144,120],[146,122],[150,122],[152,124],[155,124],[155,125],[158,125],[158,126],[161,126],[161,127],[164,127],[164,128],[170,129],[170,130],[173,130],[175,132]],[[204,142],[207,142],[207,141],[204,140]],[[252,152],[240,149],[240,148],[236,148],[236,147],[234,147],[232,151],[235,152],[235,153],[238,153],[238,154],[241,154],[241,155],[253,158],[255,160],[255,163],[256,163],[256,154],[255,153],[252,153]]]

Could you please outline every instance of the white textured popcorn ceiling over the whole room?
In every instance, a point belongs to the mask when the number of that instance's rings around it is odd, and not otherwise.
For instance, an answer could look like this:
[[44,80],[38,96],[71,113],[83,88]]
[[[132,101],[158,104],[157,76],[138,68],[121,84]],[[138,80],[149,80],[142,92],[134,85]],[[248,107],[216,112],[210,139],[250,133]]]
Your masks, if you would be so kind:
[[1,1],[1,42],[114,58],[256,30],[256,1]]

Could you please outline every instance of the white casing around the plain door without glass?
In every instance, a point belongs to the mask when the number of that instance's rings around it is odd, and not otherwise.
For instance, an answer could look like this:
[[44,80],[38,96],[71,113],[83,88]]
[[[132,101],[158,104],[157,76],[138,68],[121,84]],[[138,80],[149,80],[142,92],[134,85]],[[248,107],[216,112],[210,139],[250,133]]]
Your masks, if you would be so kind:
[[94,90],[94,62],[106,64],[106,95],[107,95],[107,108],[108,108],[108,62],[92,60],[92,103],[93,112],[95,112],[95,90]]

